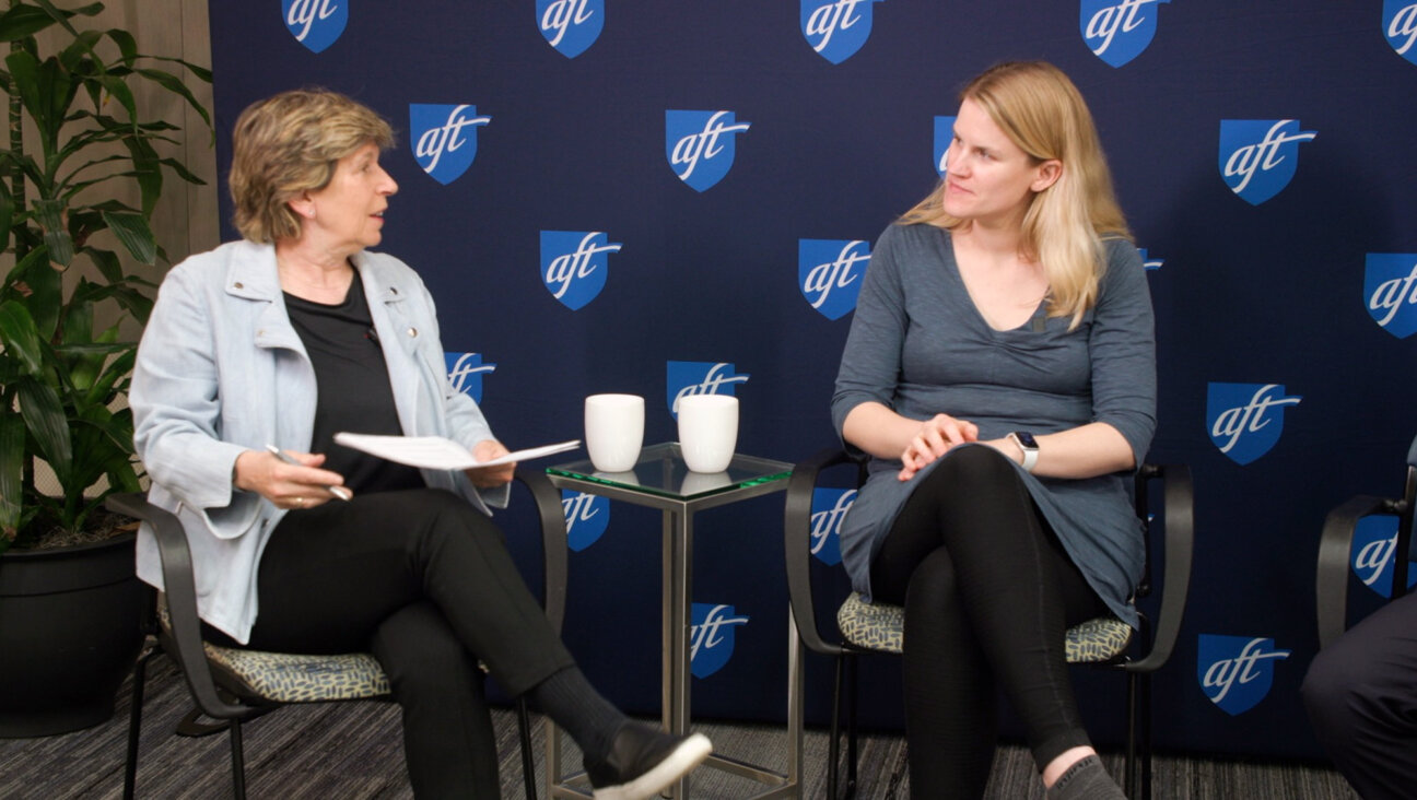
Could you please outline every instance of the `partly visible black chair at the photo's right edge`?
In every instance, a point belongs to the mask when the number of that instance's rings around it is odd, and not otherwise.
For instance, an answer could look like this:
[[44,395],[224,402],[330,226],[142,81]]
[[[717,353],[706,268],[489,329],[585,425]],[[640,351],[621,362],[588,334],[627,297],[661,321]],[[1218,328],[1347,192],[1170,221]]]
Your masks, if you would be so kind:
[[1353,548],[1353,532],[1363,517],[1373,514],[1397,517],[1391,599],[1396,600],[1407,593],[1414,501],[1417,501],[1417,439],[1413,439],[1407,450],[1407,481],[1400,498],[1359,494],[1329,511],[1323,520],[1314,592],[1318,602],[1319,650],[1332,644],[1348,627],[1349,554]]

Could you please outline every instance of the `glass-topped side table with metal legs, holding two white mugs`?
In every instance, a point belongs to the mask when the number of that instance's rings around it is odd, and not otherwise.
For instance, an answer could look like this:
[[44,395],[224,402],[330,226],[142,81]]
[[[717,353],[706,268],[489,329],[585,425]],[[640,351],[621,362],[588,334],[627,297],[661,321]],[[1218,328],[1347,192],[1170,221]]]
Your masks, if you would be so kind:
[[[693,596],[693,555],[696,511],[738,503],[750,497],[784,491],[792,464],[752,456],[734,456],[728,469],[704,474],[689,472],[679,445],[667,442],[640,450],[633,470],[601,473],[589,460],[547,467],[547,477],[557,488],[570,488],[648,505],[663,511],[663,671],[662,715],[665,729],[689,732],[689,643],[690,598]],[[788,613],[788,765],[775,772],[718,753],[704,766],[721,769],[765,783],[768,789],[754,797],[796,797],[802,775],[802,657],[792,615]],[[547,783],[550,797],[589,797],[584,776],[567,780],[561,775],[561,736],[547,721]],[[670,787],[670,797],[689,796],[689,779]]]

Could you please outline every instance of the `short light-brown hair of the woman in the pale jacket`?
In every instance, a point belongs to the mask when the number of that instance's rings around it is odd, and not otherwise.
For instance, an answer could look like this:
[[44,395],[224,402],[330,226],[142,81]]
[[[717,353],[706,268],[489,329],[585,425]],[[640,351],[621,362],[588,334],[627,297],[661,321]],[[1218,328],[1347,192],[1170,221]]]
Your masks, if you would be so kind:
[[393,147],[388,122],[336,92],[296,89],[251,103],[231,136],[237,229],[252,242],[298,238],[289,201],[329,185],[334,164],[370,142]]

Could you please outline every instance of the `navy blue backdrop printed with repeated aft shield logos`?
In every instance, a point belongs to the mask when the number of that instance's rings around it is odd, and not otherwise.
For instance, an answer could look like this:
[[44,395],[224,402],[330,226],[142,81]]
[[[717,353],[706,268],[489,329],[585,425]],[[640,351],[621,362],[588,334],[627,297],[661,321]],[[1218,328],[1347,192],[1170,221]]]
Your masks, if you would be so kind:
[[[213,3],[218,157],[237,113],[288,88],[388,118],[381,249],[428,282],[449,368],[510,446],[578,438],[605,391],[645,395],[646,440],[667,440],[673,395],[718,391],[740,398],[741,452],[796,460],[835,442],[853,292],[937,181],[935,118],[993,62],[1057,64],[1153,268],[1151,460],[1196,476],[1158,742],[1308,756],[1319,527],[1399,491],[1417,432],[1414,18],[1407,0]],[[657,515],[575,500],[567,641],[657,712]],[[503,518],[530,571],[524,505]],[[723,624],[699,643],[697,715],[784,715],[779,530],[781,496],[699,520],[693,599]],[[1366,554],[1390,532],[1367,525]],[[1356,564],[1357,606],[1384,564]],[[898,664],[877,661],[867,716],[898,725]],[[826,673],[809,663],[813,721]],[[1077,678],[1115,741],[1118,678]]]

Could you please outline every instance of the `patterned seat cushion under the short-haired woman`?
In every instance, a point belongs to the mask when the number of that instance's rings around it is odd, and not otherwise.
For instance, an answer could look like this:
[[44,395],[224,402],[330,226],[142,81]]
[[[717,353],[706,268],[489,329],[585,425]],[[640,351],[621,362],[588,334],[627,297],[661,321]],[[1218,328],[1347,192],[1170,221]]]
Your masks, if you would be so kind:
[[[159,603],[159,622],[169,632],[167,603]],[[368,653],[306,656],[266,653],[201,643],[207,661],[239,687],[237,694],[275,702],[323,702],[388,694],[388,675]]]

